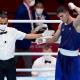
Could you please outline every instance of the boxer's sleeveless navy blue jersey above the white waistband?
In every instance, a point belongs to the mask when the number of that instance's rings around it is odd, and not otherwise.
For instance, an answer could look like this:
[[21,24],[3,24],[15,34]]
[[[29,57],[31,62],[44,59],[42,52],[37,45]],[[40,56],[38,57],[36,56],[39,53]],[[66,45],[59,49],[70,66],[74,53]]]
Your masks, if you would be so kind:
[[62,24],[60,48],[67,50],[77,50],[80,48],[80,33],[76,31],[73,23]]

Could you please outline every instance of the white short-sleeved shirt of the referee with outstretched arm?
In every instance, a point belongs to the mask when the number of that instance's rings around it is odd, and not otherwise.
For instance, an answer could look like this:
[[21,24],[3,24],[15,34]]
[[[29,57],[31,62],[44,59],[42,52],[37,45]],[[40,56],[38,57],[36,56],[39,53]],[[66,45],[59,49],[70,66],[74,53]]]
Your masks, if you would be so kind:
[[0,60],[8,60],[14,57],[16,40],[23,40],[25,33],[15,28],[6,28],[7,33],[0,35]]

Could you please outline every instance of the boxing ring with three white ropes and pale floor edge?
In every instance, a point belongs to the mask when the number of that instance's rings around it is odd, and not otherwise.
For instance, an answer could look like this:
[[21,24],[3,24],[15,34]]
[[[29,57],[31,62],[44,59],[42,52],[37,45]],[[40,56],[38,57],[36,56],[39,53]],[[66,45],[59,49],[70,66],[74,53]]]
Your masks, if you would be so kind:
[[[60,23],[61,22],[61,20],[8,20],[8,22],[9,23]],[[51,54],[49,54],[49,53],[38,53],[38,52],[36,52],[36,53],[33,53],[33,52],[26,52],[26,53],[22,53],[22,52],[19,52],[19,53],[15,53],[15,56],[28,56],[28,55],[33,55],[33,56],[40,56],[40,55],[54,55],[54,56],[56,56],[57,55],[57,53],[51,53]],[[51,71],[51,70],[53,70],[53,69],[51,69],[51,68],[45,68],[45,69],[39,69],[39,68],[37,68],[37,69],[34,69],[34,71]],[[32,71],[32,69],[20,69],[20,68],[17,68],[16,69],[16,72],[31,72]],[[16,76],[16,78],[17,78],[17,80],[54,80],[54,76],[52,76],[52,77],[27,77],[27,76],[25,76],[25,77],[23,77],[23,76],[20,76],[20,77],[18,77],[18,76]],[[5,78],[5,80],[7,80],[6,78]]]

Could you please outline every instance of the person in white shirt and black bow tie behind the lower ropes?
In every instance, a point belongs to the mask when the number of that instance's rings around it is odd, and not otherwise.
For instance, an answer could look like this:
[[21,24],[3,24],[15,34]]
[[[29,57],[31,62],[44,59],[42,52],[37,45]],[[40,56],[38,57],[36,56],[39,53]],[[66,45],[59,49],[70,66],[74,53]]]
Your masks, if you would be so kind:
[[[50,45],[45,45],[43,47],[43,52],[45,53],[51,53],[52,49],[50,48]],[[51,55],[43,55],[42,57],[36,59],[33,63],[32,69],[46,69],[46,68],[52,68],[52,71],[32,71],[32,76],[37,77],[55,77],[55,65],[56,65],[56,58]]]

